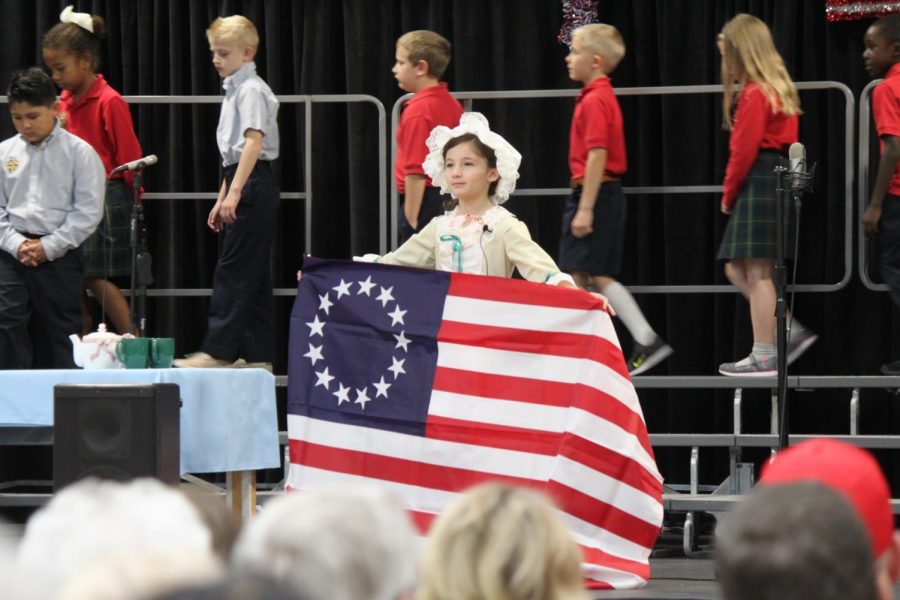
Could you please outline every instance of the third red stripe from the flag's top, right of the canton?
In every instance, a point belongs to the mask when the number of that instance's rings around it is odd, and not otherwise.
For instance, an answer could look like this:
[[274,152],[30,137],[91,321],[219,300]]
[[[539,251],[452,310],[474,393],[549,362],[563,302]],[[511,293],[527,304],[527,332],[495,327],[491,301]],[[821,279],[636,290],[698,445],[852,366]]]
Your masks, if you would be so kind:
[[576,406],[633,433],[644,450],[653,456],[653,448],[650,446],[650,438],[641,415],[615,397],[593,387],[447,367],[437,368],[432,387],[441,392],[480,398],[512,400],[559,408]]

